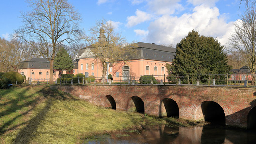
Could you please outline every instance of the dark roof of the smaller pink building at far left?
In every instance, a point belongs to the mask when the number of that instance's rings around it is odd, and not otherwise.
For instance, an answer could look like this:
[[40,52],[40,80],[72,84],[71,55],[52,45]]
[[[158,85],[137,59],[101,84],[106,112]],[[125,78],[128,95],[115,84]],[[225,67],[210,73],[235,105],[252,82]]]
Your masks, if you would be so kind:
[[[78,68],[77,62],[74,60],[74,69]],[[19,69],[50,69],[50,62],[46,58],[30,58],[20,62]]]

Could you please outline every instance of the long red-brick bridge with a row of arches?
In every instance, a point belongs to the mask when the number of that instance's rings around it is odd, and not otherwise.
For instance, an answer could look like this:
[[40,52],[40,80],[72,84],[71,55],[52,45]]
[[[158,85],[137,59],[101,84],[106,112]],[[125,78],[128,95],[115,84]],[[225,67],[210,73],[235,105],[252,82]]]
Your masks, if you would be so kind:
[[57,88],[112,109],[256,128],[256,88],[180,85]]

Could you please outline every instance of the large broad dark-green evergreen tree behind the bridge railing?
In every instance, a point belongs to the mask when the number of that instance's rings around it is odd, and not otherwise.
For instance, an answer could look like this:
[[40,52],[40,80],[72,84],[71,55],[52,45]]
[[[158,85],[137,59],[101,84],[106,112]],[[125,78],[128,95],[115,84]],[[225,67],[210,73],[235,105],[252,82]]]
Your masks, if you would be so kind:
[[226,74],[232,69],[227,64],[224,46],[212,37],[200,36],[192,30],[176,46],[173,64],[169,74]]

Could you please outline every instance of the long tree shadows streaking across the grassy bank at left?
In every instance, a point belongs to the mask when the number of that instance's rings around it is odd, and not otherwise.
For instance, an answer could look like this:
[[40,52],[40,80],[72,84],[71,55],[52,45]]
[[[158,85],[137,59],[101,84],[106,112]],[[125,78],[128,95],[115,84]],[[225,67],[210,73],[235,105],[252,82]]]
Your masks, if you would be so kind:
[[[30,91],[30,89],[33,89],[33,91]],[[36,89],[38,91],[35,91]],[[22,144],[29,143],[37,127],[48,113],[52,101],[56,99],[76,99],[62,91],[51,90],[49,86],[40,87],[36,85],[17,86],[2,90],[0,91],[0,97],[6,100],[6,102],[0,104],[0,120],[2,121],[0,123],[0,135],[18,129],[18,127],[23,127],[14,140],[14,143]],[[45,106],[36,112],[35,116],[29,115],[39,103],[45,103]],[[8,108],[6,108],[7,106]]]

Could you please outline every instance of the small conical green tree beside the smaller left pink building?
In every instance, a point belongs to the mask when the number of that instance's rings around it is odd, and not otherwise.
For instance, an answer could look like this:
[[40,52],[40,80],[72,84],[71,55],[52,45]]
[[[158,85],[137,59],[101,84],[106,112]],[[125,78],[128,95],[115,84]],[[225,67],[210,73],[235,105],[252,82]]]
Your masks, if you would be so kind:
[[72,70],[74,68],[72,59],[64,47],[57,52],[53,65],[57,70]]

